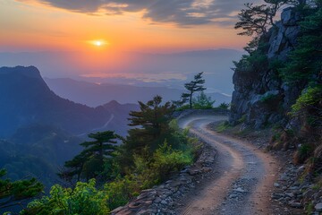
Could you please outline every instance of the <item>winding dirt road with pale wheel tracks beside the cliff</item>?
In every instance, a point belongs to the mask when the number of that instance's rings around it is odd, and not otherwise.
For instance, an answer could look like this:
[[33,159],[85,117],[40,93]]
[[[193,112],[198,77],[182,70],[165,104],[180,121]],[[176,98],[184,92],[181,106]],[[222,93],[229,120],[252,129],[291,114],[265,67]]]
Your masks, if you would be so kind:
[[277,161],[248,142],[210,131],[211,122],[225,116],[190,116],[179,120],[217,151],[211,180],[196,187],[182,202],[180,214],[253,215],[274,214],[270,195],[275,182]]

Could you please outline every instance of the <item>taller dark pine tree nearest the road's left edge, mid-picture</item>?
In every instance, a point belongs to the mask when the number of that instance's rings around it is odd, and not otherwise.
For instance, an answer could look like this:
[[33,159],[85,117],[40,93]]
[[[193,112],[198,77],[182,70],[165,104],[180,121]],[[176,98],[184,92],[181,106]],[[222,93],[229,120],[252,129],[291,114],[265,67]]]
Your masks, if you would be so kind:
[[140,111],[130,113],[130,125],[134,128],[129,130],[122,147],[123,167],[133,164],[134,154],[149,157],[173,133],[169,123],[173,119],[174,106],[170,102],[162,104],[162,98],[156,96],[147,104],[139,104]]

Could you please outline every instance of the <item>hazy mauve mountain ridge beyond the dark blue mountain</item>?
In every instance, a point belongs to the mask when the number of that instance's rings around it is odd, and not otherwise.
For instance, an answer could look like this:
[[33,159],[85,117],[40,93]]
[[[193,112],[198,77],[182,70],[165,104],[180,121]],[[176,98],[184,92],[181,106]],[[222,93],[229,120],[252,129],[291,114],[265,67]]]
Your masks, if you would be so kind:
[[[92,82],[80,82],[68,78],[48,79],[45,78],[50,89],[65,99],[97,107],[110,100],[117,100],[120,103],[137,103],[139,100],[146,102],[156,95],[164,100],[178,100],[183,90],[170,89],[166,87],[138,87],[123,84]],[[230,103],[231,97],[221,93],[210,93],[216,99],[216,105],[222,102]]]

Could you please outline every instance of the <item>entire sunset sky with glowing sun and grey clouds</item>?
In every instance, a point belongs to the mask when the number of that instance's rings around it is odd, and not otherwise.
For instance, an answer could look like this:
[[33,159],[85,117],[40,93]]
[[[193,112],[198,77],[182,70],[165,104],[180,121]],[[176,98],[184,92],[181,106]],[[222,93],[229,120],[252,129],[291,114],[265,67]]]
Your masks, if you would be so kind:
[[[139,73],[138,62],[144,63],[144,59],[136,59],[147,53],[242,50],[250,38],[238,36],[233,24],[244,3],[242,0],[0,0],[0,54],[5,56],[0,64],[35,64],[38,55],[47,62],[39,66],[49,77],[61,77],[64,73],[106,77],[109,73]],[[17,53],[30,55],[20,61],[14,56]],[[57,64],[64,71],[48,69]]]

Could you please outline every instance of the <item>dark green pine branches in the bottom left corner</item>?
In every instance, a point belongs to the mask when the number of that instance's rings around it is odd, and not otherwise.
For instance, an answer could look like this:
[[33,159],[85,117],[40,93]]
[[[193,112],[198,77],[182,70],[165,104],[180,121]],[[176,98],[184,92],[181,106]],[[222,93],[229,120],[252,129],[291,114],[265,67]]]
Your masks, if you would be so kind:
[[44,186],[36,178],[11,181],[4,179],[6,170],[0,169],[0,209],[12,207],[21,204],[38,193],[41,193]]

